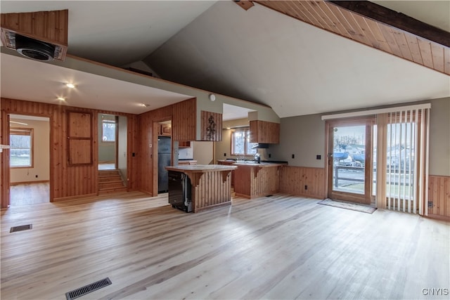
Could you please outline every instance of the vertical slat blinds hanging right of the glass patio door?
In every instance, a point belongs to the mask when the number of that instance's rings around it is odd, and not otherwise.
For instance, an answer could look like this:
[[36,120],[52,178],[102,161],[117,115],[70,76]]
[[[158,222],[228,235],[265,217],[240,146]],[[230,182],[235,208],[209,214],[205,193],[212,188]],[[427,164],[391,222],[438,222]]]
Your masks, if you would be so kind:
[[428,108],[399,110],[387,113],[387,124],[378,124],[386,126],[385,183],[378,182],[385,195],[377,195],[378,207],[386,199],[387,209],[428,215],[429,114]]

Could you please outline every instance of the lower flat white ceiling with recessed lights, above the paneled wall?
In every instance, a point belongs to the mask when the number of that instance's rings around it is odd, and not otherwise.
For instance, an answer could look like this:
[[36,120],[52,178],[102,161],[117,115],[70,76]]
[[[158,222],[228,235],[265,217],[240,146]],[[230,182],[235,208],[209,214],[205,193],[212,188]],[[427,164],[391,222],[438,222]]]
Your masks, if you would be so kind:
[[[136,115],[192,98],[6,53],[1,53],[0,58],[1,97],[4,98]],[[75,89],[65,86],[68,82],[75,83]]]

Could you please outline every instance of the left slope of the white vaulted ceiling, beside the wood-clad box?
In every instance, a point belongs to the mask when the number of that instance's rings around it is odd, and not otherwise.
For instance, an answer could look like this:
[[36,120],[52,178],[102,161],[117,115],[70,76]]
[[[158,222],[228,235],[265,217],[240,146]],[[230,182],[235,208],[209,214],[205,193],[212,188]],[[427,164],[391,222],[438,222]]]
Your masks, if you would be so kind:
[[117,67],[141,60],[216,1],[0,1],[1,13],[69,10],[68,53]]

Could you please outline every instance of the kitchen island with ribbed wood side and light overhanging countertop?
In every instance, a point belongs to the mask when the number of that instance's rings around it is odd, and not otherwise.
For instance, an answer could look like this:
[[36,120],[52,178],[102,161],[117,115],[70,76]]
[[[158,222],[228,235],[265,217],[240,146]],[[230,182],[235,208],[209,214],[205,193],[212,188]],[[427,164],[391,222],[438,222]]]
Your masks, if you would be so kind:
[[[231,204],[231,171],[237,169],[236,166],[194,164],[169,166],[166,169],[175,175],[186,174],[190,179],[191,186],[188,190],[191,193],[190,200],[192,201],[192,211],[194,213],[212,207]],[[174,190],[171,193],[169,178],[169,203],[171,202],[171,195],[177,194],[179,193],[176,193]]]

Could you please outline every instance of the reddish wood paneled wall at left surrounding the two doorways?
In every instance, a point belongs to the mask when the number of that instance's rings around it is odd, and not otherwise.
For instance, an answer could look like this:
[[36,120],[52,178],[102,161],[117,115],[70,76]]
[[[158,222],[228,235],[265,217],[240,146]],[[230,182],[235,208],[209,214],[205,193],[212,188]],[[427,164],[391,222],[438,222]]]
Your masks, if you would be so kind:
[[[67,143],[67,111],[90,112],[93,123],[97,124],[98,113],[124,115],[128,118],[128,149],[135,152],[136,140],[136,116],[120,112],[103,110],[89,110],[85,108],[69,107],[65,105],[53,105],[23,100],[1,98],[1,144],[9,144],[8,138],[8,115],[34,115],[50,118],[50,199],[51,201],[65,200],[79,195],[96,195],[97,193],[97,157],[98,157],[98,132],[97,127],[92,126],[93,164],[82,166],[68,166],[68,143]],[[127,171],[128,190],[136,189],[136,162],[129,155],[129,166]],[[1,207],[7,207],[9,199],[9,150],[1,153]]]

